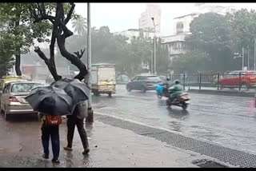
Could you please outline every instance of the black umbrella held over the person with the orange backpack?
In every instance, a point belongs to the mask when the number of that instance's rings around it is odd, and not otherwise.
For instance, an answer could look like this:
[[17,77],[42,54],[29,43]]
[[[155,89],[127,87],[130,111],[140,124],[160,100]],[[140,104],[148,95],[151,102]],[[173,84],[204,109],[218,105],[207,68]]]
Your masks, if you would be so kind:
[[73,113],[72,98],[63,89],[53,86],[33,89],[26,97],[26,101],[35,111],[50,115],[66,115]]

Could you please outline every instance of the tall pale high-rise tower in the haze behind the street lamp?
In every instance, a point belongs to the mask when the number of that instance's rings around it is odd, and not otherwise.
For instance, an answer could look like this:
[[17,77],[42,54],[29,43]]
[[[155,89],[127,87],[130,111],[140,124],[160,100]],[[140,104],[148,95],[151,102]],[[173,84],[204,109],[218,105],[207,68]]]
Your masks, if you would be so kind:
[[161,30],[161,8],[159,4],[147,4],[146,11],[141,14],[138,19],[138,28],[147,31],[154,32],[154,23],[152,21],[154,18],[156,35],[160,36]]

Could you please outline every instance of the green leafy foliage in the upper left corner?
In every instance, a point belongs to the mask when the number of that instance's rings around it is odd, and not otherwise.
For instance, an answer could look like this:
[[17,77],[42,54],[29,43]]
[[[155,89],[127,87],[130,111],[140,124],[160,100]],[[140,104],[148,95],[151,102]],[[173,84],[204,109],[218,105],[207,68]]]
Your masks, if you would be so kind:
[[[49,42],[50,22],[38,22],[30,18],[29,3],[1,3],[0,20],[5,23],[2,32],[9,34],[13,41],[14,54],[26,54],[34,39],[38,42]],[[47,4],[50,6],[50,4]],[[50,7],[52,8],[52,7]]]

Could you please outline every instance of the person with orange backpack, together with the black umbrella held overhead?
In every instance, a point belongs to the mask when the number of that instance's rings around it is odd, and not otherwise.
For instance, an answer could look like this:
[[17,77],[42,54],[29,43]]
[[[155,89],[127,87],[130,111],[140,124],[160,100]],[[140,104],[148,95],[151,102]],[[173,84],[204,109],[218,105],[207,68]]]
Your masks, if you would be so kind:
[[34,111],[39,112],[42,118],[42,157],[49,158],[49,141],[51,140],[54,163],[59,163],[60,150],[59,125],[62,123],[62,115],[71,114],[74,110],[72,98],[63,89],[52,86],[32,89],[26,97],[26,101]]

